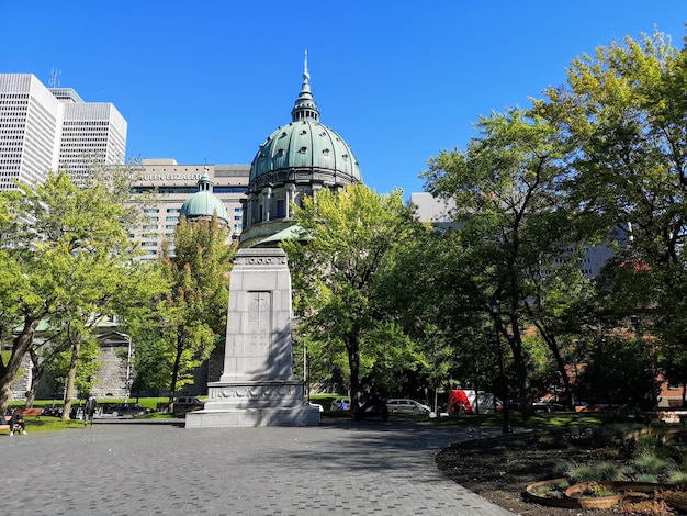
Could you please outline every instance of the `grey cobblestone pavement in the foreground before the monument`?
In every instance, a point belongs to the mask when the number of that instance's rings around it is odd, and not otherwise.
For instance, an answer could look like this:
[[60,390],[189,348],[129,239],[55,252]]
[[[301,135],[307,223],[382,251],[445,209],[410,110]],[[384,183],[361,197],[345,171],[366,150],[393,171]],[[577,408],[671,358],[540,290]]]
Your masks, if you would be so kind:
[[4,514],[511,515],[437,470],[439,448],[469,438],[457,427],[324,419],[185,429],[101,419],[27,430],[0,435]]

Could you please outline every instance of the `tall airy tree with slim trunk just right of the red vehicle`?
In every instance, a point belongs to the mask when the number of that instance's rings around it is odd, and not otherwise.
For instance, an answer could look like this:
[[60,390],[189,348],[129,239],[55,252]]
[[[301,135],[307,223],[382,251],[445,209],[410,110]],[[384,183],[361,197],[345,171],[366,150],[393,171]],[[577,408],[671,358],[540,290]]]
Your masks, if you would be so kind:
[[[567,256],[573,261],[568,248],[579,242],[575,210],[566,204],[565,169],[551,124],[511,109],[482,117],[476,126],[481,137],[473,138],[464,153],[443,152],[430,159],[423,177],[428,191],[455,202],[459,250],[453,263],[466,271],[459,284],[472,310],[478,307],[484,315],[489,314],[489,301],[499,300],[494,322],[509,345],[517,386],[529,406],[530,364],[522,328],[540,315],[531,300],[541,300],[542,289],[551,289],[560,267],[556,260]],[[543,328],[547,319],[539,317],[538,323]],[[547,344],[559,356],[551,338],[554,328],[548,330]],[[556,360],[564,372],[562,359]]]

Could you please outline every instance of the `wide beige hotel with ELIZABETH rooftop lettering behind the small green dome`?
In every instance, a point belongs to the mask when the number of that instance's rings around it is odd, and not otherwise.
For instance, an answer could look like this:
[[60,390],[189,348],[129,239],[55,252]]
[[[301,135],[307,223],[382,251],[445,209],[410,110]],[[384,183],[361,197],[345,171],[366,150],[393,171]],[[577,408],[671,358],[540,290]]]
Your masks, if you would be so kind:
[[[238,238],[249,172],[249,165],[179,165],[174,159],[143,159],[134,178],[134,192],[157,191],[158,202],[142,206],[143,225],[129,234],[132,239],[140,242],[144,253],[140,260],[155,260],[166,240],[173,248],[174,227],[182,214],[212,216],[216,207],[219,218],[226,217],[232,237]],[[187,202],[192,197],[193,202]],[[216,200],[221,201],[218,205]]]

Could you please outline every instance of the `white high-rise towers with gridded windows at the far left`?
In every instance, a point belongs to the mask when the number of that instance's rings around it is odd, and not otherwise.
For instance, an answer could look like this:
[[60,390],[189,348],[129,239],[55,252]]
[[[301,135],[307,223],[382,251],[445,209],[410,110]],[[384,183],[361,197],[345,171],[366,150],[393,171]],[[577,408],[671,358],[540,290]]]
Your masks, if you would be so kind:
[[66,170],[78,183],[94,164],[122,165],[126,121],[106,102],[46,88],[32,74],[0,74],[0,189]]

